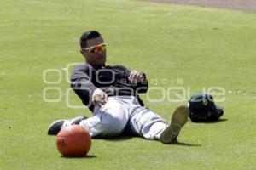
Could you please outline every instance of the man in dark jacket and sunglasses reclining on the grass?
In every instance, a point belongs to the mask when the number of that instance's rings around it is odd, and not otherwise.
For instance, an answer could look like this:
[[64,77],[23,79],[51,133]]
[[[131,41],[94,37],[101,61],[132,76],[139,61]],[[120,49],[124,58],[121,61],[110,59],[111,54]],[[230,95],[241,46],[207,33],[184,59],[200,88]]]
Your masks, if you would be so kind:
[[188,120],[189,108],[179,106],[167,124],[154,111],[143,106],[140,93],[148,90],[146,75],[130,71],[123,65],[106,65],[106,43],[98,31],[86,31],[80,37],[80,53],[85,59],[71,75],[71,87],[93,116],[78,116],[53,122],[49,135],[62,127],[79,124],[92,138],[111,137],[123,133],[157,139],[163,144],[177,141],[180,130]]

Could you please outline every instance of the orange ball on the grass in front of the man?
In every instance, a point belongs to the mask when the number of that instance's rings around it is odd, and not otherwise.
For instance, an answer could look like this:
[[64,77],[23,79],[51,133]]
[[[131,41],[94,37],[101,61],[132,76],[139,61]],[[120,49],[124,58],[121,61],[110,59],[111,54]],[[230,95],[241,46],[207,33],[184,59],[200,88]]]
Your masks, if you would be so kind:
[[91,145],[90,134],[79,125],[64,127],[57,134],[56,145],[62,156],[86,156]]

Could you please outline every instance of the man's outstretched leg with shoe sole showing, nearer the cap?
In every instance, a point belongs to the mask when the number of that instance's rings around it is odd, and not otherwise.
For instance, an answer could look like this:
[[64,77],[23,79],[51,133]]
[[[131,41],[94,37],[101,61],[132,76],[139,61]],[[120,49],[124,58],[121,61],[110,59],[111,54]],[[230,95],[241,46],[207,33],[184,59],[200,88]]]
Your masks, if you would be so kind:
[[137,107],[131,114],[127,129],[145,139],[159,139],[163,144],[170,144],[177,139],[177,135],[188,120],[188,116],[188,107],[179,106],[172,114],[171,124],[167,125],[164,119],[153,111],[144,107]]

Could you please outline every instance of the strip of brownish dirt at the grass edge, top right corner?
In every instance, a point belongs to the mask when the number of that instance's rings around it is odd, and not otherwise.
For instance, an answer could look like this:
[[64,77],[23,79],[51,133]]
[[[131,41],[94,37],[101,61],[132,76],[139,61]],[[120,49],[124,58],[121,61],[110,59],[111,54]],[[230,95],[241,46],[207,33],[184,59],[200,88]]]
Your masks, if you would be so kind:
[[256,11],[256,0],[148,0],[156,3],[191,4],[204,7]]

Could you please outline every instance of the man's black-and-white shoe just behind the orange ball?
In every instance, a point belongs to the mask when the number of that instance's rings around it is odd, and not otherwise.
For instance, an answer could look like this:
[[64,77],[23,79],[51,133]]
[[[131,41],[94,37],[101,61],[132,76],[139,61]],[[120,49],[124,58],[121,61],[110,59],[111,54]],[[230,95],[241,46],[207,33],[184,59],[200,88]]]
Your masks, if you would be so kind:
[[84,119],[87,119],[88,117],[86,116],[77,116],[73,119],[68,119],[68,120],[57,120],[55,122],[52,122],[47,130],[48,135],[57,135],[60,131],[61,128],[67,127],[73,124],[78,124]]

